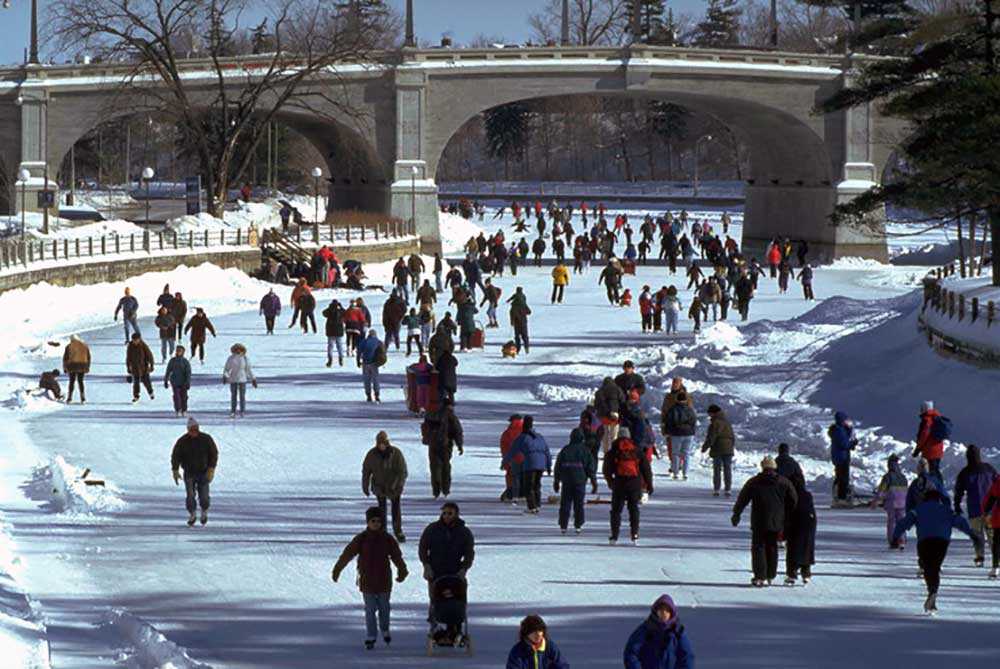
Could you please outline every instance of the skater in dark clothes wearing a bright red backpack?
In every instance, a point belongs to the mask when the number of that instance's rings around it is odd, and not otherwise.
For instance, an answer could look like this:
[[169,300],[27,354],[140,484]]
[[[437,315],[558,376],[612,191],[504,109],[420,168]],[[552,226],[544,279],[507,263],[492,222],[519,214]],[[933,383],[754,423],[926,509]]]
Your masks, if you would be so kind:
[[638,543],[639,500],[643,491],[653,494],[653,472],[649,461],[632,441],[628,428],[618,430],[618,438],[604,456],[603,474],[611,488],[611,536],[608,542],[618,543],[622,509],[627,504],[632,543]]

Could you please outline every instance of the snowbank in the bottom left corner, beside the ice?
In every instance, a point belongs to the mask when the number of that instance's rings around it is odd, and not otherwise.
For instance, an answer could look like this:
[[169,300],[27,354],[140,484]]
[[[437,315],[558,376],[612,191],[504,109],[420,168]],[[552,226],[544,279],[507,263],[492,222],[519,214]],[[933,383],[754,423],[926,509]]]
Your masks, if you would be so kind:
[[49,642],[45,623],[15,578],[20,559],[0,515],[0,656],[5,667],[47,669]]

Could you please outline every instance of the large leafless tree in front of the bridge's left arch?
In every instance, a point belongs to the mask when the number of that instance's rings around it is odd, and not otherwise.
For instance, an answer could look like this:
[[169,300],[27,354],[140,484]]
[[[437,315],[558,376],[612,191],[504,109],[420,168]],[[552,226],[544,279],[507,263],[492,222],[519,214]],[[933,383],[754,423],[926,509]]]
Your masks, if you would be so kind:
[[[197,157],[209,210],[221,216],[229,184],[242,178],[269,123],[283,110],[354,117],[331,66],[371,63],[398,26],[388,13],[277,0],[271,11],[273,51],[233,60],[250,48],[243,25],[250,0],[57,0],[51,30],[67,49],[81,45],[128,64],[114,105],[154,110],[173,120]],[[186,75],[198,57],[209,76]],[[313,85],[326,78],[325,85]]]

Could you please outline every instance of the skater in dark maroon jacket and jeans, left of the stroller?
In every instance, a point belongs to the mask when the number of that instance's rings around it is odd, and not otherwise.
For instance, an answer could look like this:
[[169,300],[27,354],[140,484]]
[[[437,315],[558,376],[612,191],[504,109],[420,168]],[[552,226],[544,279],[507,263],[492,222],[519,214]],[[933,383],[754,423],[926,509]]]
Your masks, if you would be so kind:
[[389,562],[396,565],[397,583],[405,581],[409,572],[399,544],[385,531],[383,511],[377,506],[370,507],[365,511],[365,523],[365,529],[355,535],[340,554],[330,577],[336,583],[344,567],[354,558],[358,559],[358,589],[365,602],[365,648],[372,650],[378,632],[382,633],[385,645],[392,643],[389,626],[392,569]]

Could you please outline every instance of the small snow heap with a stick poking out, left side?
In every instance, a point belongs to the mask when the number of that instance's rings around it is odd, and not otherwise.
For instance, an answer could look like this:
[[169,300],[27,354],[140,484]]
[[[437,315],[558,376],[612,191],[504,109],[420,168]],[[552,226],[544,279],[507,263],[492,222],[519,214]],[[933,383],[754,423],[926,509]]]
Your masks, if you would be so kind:
[[47,497],[56,513],[73,516],[94,516],[123,511],[128,505],[121,498],[121,491],[112,483],[88,485],[90,480],[100,480],[83,468],[73,466],[57,455],[52,461],[35,470],[32,487],[36,496],[47,491]]

